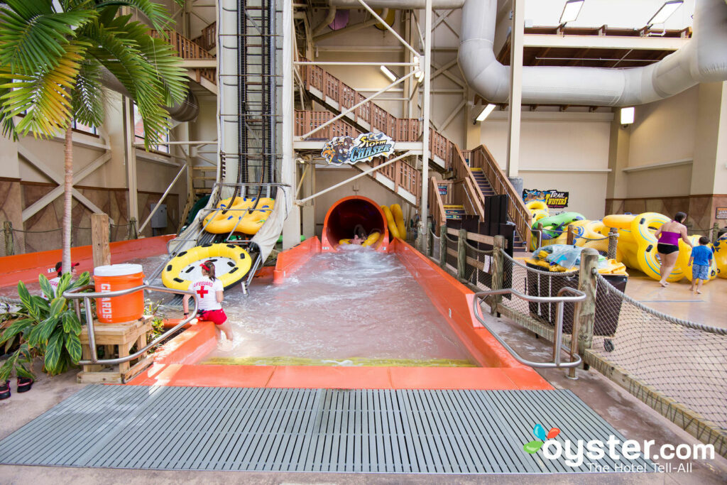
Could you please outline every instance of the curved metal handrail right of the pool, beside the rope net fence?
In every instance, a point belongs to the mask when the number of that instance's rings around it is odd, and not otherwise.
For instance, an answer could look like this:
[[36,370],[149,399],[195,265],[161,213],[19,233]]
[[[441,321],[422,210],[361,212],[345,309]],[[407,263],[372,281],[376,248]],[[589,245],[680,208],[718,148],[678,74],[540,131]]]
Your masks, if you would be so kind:
[[[562,296],[564,293],[571,293],[576,296],[573,297],[564,297]],[[525,358],[522,358],[518,355],[515,350],[510,347],[510,345],[507,345],[507,342],[505,340],[502,340],[502,338],[499,337],[497,332],[494,331],[494,329],[491,329],[491,327],[487,324],[484,318],[482,318],[482,308],[480,307],[481,302],[485,297],[489,297],[491,295],[498,295],[498,294],[514,294],[516,297],[520,298],[521,300],[525,300],[526,302],[534,302],[534,303],[556,303],[556,313],[555,313],[555,337],[553,338],[553,361],[552,362],[534,362],[529,361]],[[569,286],[566,286],[565,288],[561,288],[561,290],[558,292],[558,296],[556,297],[533,297],[529,294],[523,294],[521,292],[518,292],[515,289],[512,288],[505,288],[505,289],[493,289],[488,292],[478,292],[475,293],[475,297],[472,300],[472,308],[475,313],[475,318],[484,326],[488,332],[492,334],[495,339],[500,342],[500,344],[505,347],[505,349],[510,352],[510,355],[512,355],[516,361],[520,362],[521,364],[525,364],[526,366],[531,367],[537,367],[540,369],[563,369],[563,368],[571,368],[571,367],[577,367],[581,364],[581,356],[579,356],[577,353],[574,353],[571,349],[563,347],[563,350],[566,351],[566,353],[569,353],[571,355],[571,361],[570,362],[561,362],[561,336],[563,334],[563,305],[566,302],[574,303],[574,302],[582,302],[586,299],[586,294],[584,292],[580,292],[577,289],[571,288]],[[574,322],[575,323],[575,322]],[[573,334],[576,334],[576,331],[574,329]],[[575,356],[575,360],[572,360]]]

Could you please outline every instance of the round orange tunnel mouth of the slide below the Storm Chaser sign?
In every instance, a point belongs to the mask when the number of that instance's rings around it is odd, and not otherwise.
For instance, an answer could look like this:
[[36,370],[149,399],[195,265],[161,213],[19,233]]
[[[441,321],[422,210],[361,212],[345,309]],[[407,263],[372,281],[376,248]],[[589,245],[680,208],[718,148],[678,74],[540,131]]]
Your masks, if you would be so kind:
[[389,246],[389,229],[384,212],[379,204],[368,197],[349,196],[340,199],[328,209],[321,235],[321,251],[337,251],[338,241],[353,237],[356,226],[361,224],[366,234],[382,233],[380,242],[374,244],[377,251],[386,251]]

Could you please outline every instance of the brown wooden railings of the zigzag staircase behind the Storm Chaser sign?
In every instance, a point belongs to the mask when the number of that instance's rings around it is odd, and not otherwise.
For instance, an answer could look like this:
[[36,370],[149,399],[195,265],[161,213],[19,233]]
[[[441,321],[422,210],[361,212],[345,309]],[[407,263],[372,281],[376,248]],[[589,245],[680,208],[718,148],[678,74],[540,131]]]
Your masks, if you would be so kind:
[[[340,111],[345,111],[365,99],[353,88],[317,65],[308,64],[299,67],[305,89],[310,92],[310,87],[316,88],[324,97],[324,102],[330,100],[337,103]],[[302,137],[311,129],[319,127],[333,118],[334,114],[328,111],[296,111],[295,135]],[[365,124],[368,124],[371,130],[384,132],[395,141],[409,142],[422,139],[422,121],[419,121],[419,119],[396,118],[371,101],[356,108],[353,113],[350,113],[350,117],[347,116],[345,119],[353,121],[361,127],[366,127]],[[365,124],[361,124],[361,121]],[[353,135],[354,133],[358,136],[359,132],[344,119],[339,119],[316,132],[311,139],[329,140],[332,137]],[[454,142],[431,128],[429,140],[431,156],[442,159],[445,169],[451,169],[454,176],[462,180],[457,188],[453,188],[457,192],[455,195],[461,197],[459,200],[467,201],[467,204],[470,205],[469,209],[481,219],[484,218],[484,195],[469,169],[469,167],[481,167],[495,193],[506,193],[510,197],[511,203],[508,205],[510,220],[515,223],[521,237],[528,239],[529,242],[530,212],[526,209],[521,195],[515,193],[510,180],[507,180],[487,148],[481,145],[473,151],[465,152],[465,155]],[[469,165],[465,159],[469,159]],[[417,191],[417,193],[419,192]],[[438,200],[441,201],[439,198]]]

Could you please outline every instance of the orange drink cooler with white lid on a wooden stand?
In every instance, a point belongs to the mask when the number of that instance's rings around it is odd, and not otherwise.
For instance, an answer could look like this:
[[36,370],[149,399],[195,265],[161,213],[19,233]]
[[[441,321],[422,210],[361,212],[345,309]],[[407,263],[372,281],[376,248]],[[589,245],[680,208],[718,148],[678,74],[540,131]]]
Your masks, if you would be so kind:
[[[93,270],[96,292],[115,292],[144,284],[141,265],[106,265]],[[144,314],[144,291],[121,297],[97,298],[96,315],[102,324],[121,324],[138,320]]]

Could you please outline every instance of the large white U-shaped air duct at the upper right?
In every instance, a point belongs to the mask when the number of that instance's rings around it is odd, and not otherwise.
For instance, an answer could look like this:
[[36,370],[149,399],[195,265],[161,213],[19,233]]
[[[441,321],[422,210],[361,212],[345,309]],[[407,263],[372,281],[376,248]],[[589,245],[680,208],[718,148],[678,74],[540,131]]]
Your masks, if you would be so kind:
[[[465,1],[458,60],[470,87],[491,103],[507,103],[510,67],[500,64],[494,54],[496,18],[497,0]],[[694,36],[678,51],[638,68],[525,66],[523,103],[638,105],[700,82],[726,79],[726,2],[697,0]]]

